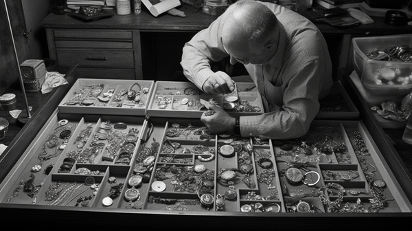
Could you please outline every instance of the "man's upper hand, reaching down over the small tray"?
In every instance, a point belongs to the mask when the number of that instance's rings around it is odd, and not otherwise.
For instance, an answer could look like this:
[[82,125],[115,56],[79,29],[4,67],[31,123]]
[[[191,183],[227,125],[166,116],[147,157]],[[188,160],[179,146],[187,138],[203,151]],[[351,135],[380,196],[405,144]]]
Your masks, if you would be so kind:
[[203,84],[203,91],[210,94],[229,94],[235,89],[233,80],[225,72],[215,72]]

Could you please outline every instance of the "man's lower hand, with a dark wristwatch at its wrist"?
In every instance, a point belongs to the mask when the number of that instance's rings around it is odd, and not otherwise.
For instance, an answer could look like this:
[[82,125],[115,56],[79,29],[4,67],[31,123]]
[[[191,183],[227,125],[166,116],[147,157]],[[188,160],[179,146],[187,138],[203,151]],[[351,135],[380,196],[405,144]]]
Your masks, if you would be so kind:
[[236,124],[235,118],[214,104],[202,114],[201,121],[214,134],[233,131]]

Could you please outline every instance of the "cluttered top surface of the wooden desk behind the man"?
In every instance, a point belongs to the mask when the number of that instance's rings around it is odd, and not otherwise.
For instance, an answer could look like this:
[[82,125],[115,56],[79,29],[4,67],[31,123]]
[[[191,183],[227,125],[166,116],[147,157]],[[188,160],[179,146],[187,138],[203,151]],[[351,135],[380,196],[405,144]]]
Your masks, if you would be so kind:
[[[183,4],[178,7],[185,12],[186,17],[174,17],[163,13],[158,17],[152,16],[146,8],[142,8],[140,15],[127,14],[117,15],[113,12],[113,17],[96,21],[81,21],[70,14],[49,14],[43,21],[43,28],[84,28],[84,29],[117,29],[117,30],[142,30],[142,31],[199,31],[207,28],[217,17],[206,15],[198,10],[194,12],[194,7]],[[385,23],[385,17],[371,17],[374,23],[368,25],[356,25],[353,27],[336,27],[328,23],[315,22],[323,34],[354,34],[354,35],[383,35],[383,34],[409,34],[412,27],[409,25],[389,25]]]

